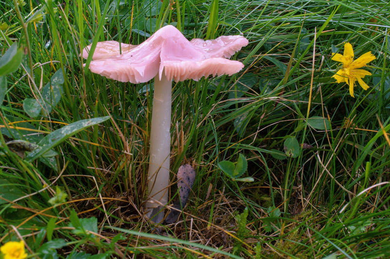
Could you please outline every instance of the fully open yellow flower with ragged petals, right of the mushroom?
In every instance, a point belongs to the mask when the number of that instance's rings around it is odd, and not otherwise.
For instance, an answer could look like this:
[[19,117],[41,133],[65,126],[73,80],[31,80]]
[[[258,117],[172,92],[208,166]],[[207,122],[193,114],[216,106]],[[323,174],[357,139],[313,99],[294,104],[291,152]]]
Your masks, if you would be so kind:
[[346,43],[344,45],[344,54],[332,53],[332,60],[343,63],[343,68],[338,70],[332,77],[336,79],[337,83],[346,82],[350,86],[350,94],[353,96],[353,86],[355,82],[359,83],[363,89],[367,90],[369,86],[364,83],[362,78],[366,75],[371,75],[369,71],[364,69],[359,69],[364,67],[370,61],[374,60],[376,57],[371,54],[371,52],[364,53],[355,61],[353,61],[353,49],[351,43]]

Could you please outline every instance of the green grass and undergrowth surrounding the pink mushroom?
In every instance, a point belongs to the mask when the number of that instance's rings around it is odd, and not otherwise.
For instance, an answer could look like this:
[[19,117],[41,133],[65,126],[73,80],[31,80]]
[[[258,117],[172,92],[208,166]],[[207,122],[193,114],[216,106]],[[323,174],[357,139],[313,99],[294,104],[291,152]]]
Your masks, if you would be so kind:
[[[1,245],[23,239],[37,258],[390,256],[388,1],[19,2],[20,15],[13,0],[0,1],[0,53],[12,42],[26,53],[6,88],[0,84]],[[103,40],[139,44],[164,24],[188,39],[242,33],[250,44],[232,57],[245,65],[234,76],[174,84],[172,175],[190,163],[197,176],[179,221],[156,227],[142,217],[151,85],[93,74],[79,53]],[[339,66],[331,52],[342,53],[345,42],[355,57],[376,56],[365,68],[370,88],[356,86],[355,98],[331,78]],[[58,70],[58,104],[30,117],[23,101],[39,99]],[[104,116],[56,140],[56,156],[29,160],[6,145],[38,143],[66,124]],[[330,127],[313,128],[314,116]],[[296,157],[283,156],[291,137]],[[218,168],[239,154],[248,160],[243,177],[254,182],[232,181]]]

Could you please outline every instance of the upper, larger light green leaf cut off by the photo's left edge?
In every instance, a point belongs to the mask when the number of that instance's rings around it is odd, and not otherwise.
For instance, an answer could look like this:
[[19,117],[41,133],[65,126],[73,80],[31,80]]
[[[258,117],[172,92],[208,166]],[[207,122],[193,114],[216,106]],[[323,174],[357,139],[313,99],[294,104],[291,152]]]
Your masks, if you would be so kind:
[[23,57],[23,51],[18,49],[18,44],[15,42],[9,47],[0,59],[0,76],[15,72]]

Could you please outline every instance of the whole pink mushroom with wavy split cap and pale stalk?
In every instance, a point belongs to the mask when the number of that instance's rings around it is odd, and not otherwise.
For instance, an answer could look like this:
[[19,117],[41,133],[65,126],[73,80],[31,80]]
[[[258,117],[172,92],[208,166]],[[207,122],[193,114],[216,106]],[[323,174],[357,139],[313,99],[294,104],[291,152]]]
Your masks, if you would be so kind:
[[[237,73],[244,65],[228,58],[247,44],[248,40],[240,35],[188,41],[172,25],[159,29],[139,45],[122,43],[121,54],[118,42],[98,42],[89,66],[92,72],[133,84],[155,79],[146,202],[146,215],[153,221],[161,222],[164,214],[159,210],[168,202],[172,80],[197,81],[203,76]],[[84,49],[84,58],[89,49]]]

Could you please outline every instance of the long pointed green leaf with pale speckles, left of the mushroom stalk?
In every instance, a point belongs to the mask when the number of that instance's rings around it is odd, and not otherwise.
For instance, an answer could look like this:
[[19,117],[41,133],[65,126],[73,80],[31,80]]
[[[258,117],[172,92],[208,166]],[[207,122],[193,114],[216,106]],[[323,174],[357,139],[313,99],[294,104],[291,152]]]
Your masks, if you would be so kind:
[[49,135],[47,135],[46,137],[42,138],[42,140],[40,140],[37,143],[38,147],[33,152],[27,155],[26,160],[28,162],[31,162],[36,158],[38,158],[39,156],[48,152],[50,149],[57,146],[65,139],[75,135],[76,133],[85,129],[86,127],[99,124],[103,121],[107,121],[108,119],[110,119],[110,116],[76,121],[58,130],[55,130]]

